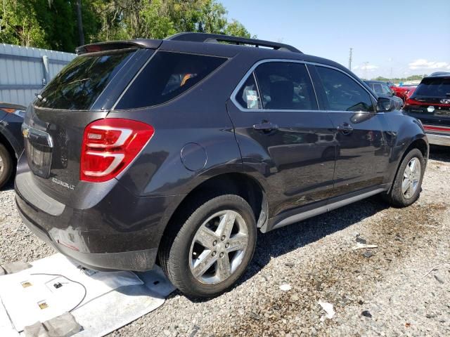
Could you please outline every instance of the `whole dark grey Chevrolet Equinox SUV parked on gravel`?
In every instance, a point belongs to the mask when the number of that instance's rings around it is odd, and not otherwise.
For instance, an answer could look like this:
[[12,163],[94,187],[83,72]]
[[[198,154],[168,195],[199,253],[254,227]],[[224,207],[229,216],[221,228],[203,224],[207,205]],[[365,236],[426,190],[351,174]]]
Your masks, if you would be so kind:
[[186,295],[215,296],[258,231],[419,197],[420,122],[336,62],[194,33],[77,53],[27,110],[15,191],[27,226],[82,265],[158,259]]

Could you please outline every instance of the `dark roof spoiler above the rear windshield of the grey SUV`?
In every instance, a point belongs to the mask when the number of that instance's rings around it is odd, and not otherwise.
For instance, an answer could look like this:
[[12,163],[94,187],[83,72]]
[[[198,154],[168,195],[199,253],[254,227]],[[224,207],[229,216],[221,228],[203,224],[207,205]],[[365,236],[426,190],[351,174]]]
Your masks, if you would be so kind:
[[95,53],[97,51],[113,51],[117,49],[137,49],[148,48],[157,49],[162,44],[162,40],[136,39],[123,41],[99,42],[98,44],[86,44],[75,49],[77,55]]

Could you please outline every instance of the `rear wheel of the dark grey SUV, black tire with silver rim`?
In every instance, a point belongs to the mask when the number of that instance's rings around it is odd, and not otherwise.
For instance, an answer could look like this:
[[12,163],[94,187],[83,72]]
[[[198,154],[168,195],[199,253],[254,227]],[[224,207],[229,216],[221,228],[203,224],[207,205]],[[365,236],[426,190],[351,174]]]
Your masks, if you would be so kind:
[[160,264],[186,296],[209,298],[229,289],[250,263],[257,238],[255,215],[234,194],[191,203],[200,206],[178,232],[163,237]]

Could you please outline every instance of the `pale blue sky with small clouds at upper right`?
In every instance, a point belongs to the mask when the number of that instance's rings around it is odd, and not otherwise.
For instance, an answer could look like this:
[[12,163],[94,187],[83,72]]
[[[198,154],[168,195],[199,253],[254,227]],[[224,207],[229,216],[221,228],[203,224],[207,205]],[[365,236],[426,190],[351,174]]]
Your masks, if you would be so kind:
[[258,39],[290,44],[359,77],[450,72],[450,0],[221,0]]

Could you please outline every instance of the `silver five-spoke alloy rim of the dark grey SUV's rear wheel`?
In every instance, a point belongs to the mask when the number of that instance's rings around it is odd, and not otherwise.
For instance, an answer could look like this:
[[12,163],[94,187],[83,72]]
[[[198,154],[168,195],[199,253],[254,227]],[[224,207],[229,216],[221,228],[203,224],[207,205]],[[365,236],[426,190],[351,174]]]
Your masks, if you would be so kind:
[[189,252],[189,267],[203,284],[218,284],[242,263],[248,246],[248,225],[236,211],[210,216],[197,230]]

